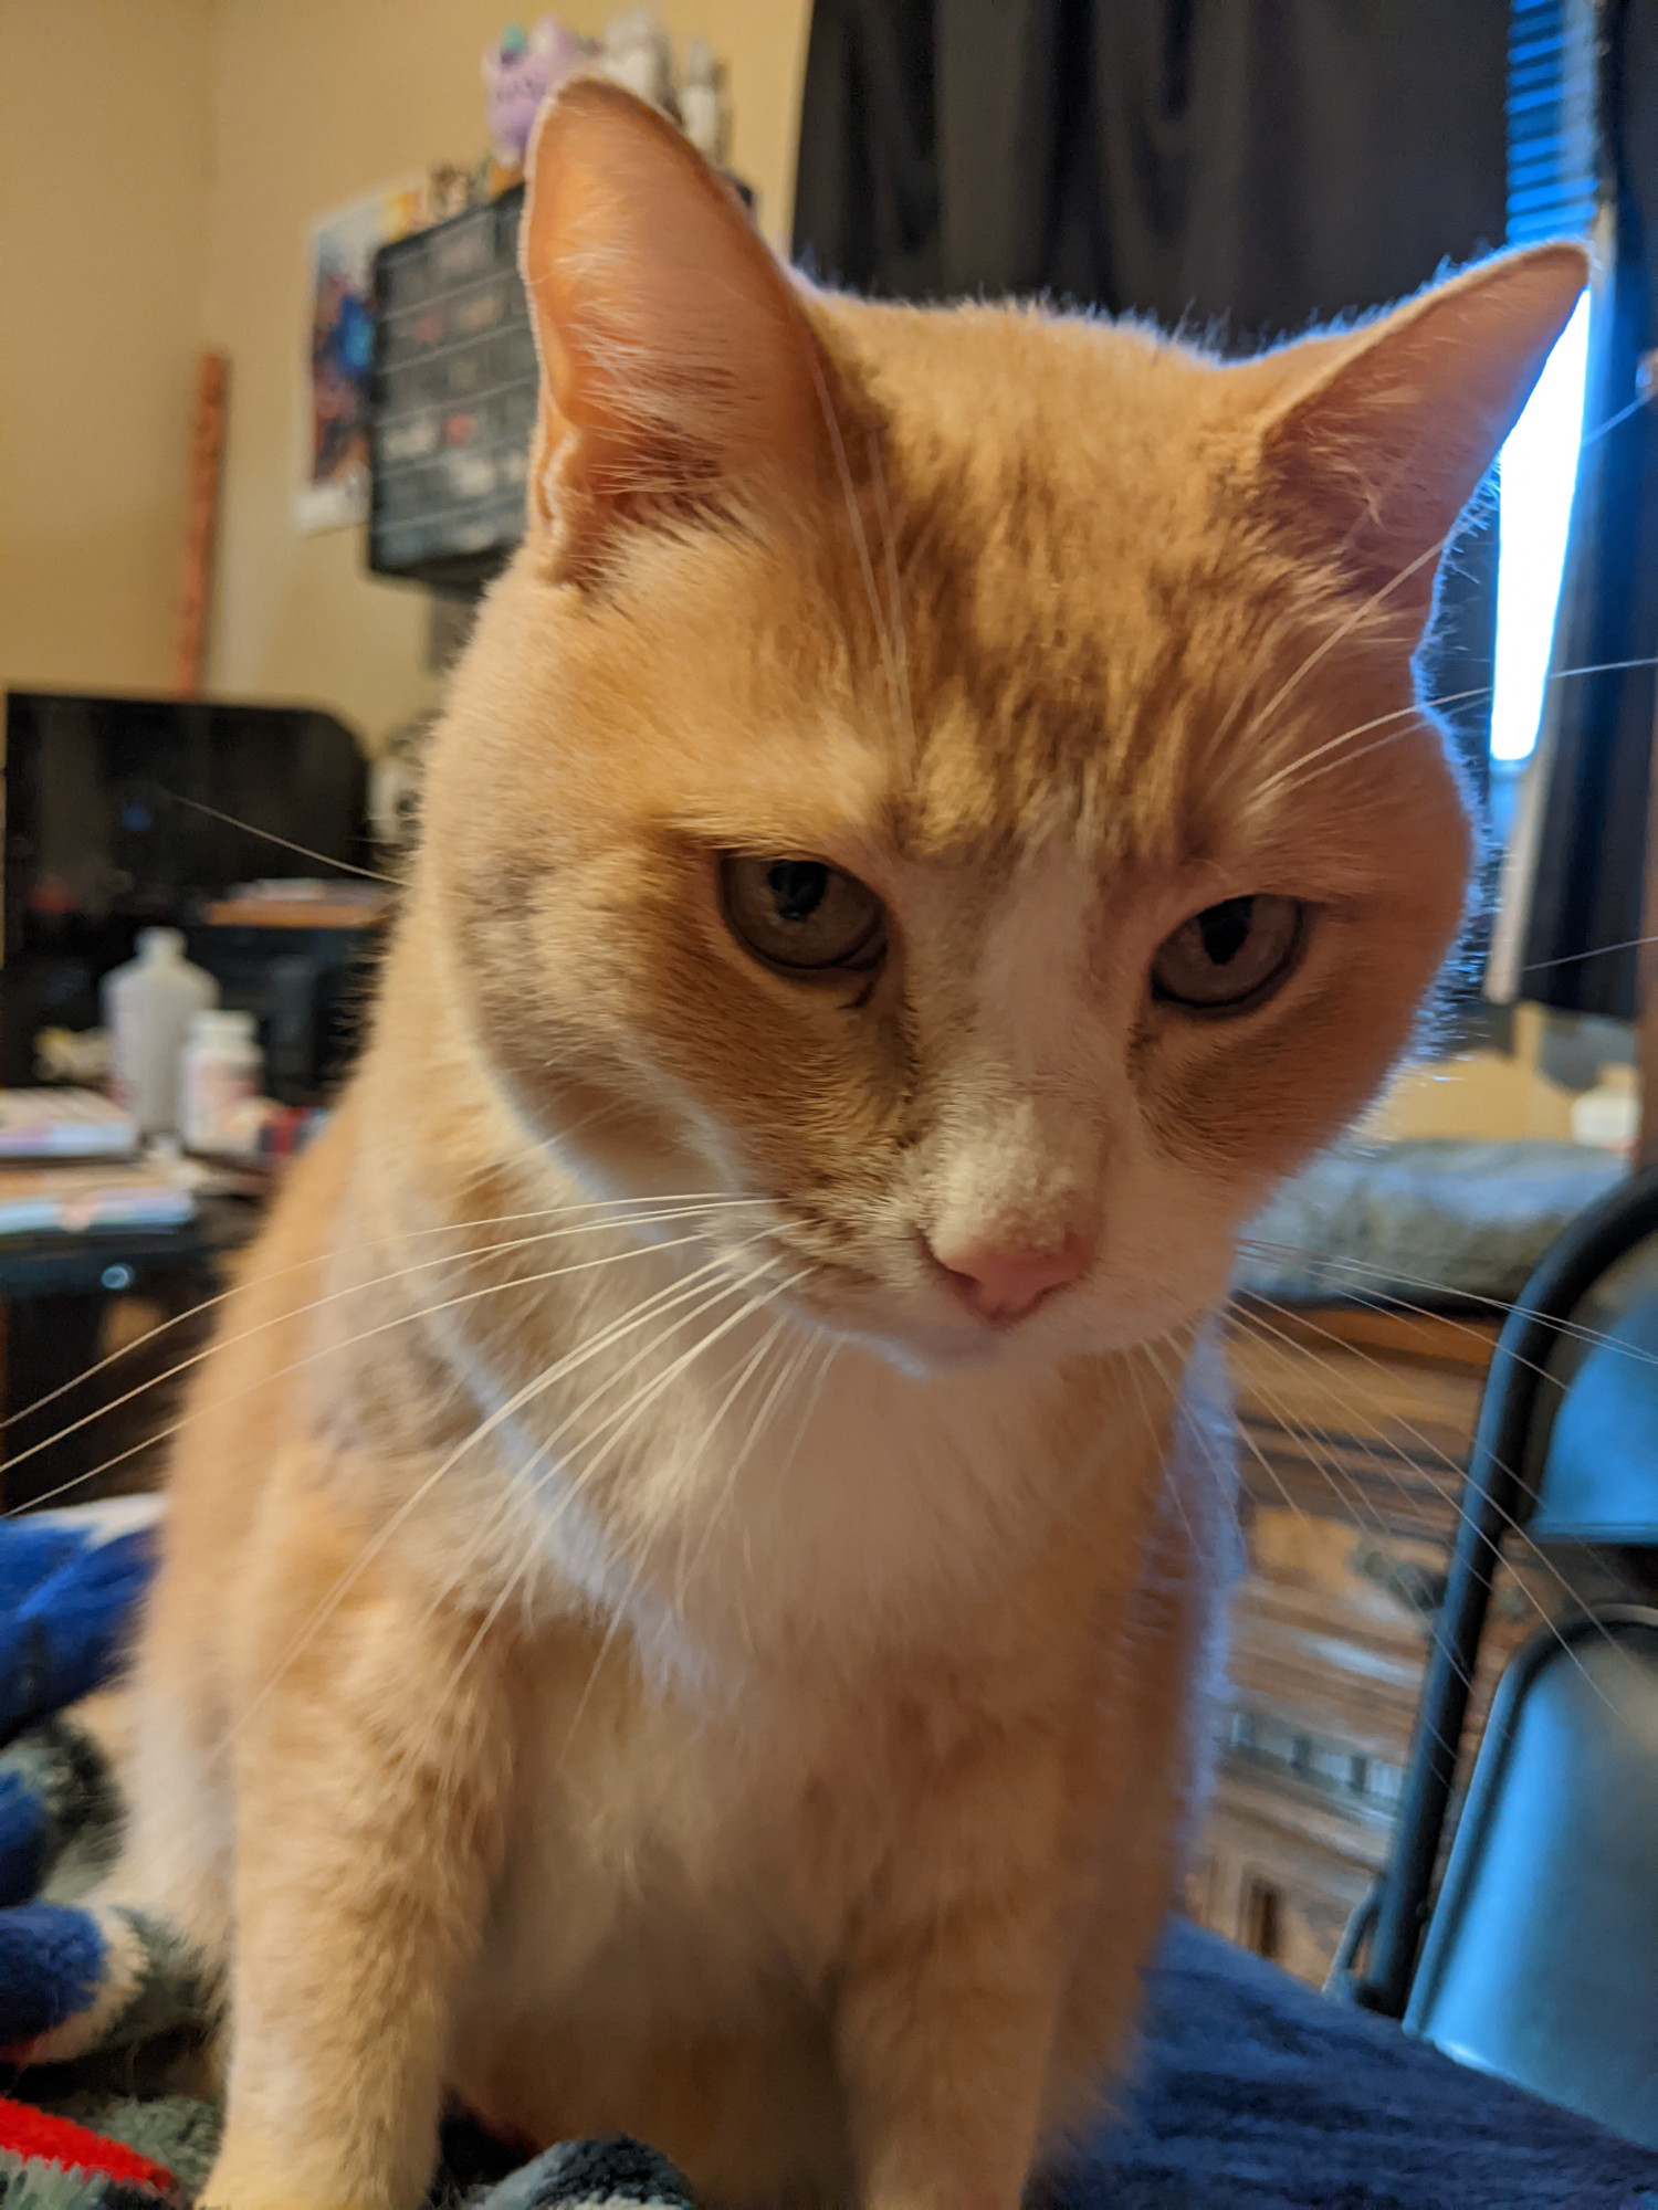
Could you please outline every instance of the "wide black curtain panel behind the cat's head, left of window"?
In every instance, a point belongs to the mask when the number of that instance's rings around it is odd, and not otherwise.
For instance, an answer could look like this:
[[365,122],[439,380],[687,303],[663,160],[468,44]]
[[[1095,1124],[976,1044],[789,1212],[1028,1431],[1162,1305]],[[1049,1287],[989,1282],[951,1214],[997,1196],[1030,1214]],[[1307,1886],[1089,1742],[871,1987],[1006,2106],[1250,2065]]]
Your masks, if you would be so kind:
[[[796,259],[1253,347],[1503,243],[1505,73],[1505,0],[816,0]],[[1437,692],[1490,683],[1494,555],[1461,539]]]

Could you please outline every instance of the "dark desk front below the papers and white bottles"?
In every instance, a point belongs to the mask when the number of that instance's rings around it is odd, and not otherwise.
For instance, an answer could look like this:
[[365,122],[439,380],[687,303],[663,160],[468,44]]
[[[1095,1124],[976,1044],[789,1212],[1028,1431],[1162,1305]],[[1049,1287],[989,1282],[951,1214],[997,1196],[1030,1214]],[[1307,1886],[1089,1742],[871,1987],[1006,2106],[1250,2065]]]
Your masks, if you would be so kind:
[[[203,1198],[195,1220],[175,1229],[0,1235],[0,1406],[7,1419],[0,1498],[9,1512],[49,1496],[80,1503],[155,1481],[159,1454],[146,1443],[175,1417],[177,1390],[157,1386],[130,1406],[104,1408],[199,1350],[212,1313],[199,1322],[179,1319],[155,1344],[133,1348],[82,1381],[104,1355],[111,1299],[144,1297],[166,1319],[190,1313],[223,1286],[225,1260],[254,1235],[261,1218],[256,1200]],[[51,1403],[29,1410],[60,1388]],[[75,1421],[86,1425],[64,1432]],[[49,1436],[55,1441],[38,1450]]]

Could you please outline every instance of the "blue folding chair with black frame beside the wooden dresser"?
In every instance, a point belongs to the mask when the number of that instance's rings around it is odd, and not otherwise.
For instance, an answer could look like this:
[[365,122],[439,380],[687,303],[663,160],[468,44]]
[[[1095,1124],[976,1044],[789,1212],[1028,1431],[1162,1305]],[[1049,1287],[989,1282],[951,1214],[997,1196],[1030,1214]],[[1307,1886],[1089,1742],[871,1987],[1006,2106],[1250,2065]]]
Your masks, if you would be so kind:
[[[1439,1874],[1517,1527],[1618,1593],[1510,1662]],[[1658,1171],[1559,1238],[1499,1337],[1393,1856],[1349,1951],[1366,1934],[1353,2000],[1658,2146]]]

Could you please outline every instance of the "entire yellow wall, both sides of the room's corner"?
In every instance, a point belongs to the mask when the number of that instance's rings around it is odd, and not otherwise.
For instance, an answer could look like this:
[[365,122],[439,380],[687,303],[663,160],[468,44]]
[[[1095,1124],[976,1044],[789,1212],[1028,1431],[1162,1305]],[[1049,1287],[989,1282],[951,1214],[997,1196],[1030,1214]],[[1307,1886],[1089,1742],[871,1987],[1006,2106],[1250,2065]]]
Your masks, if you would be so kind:
[[[486,144],[511,0],[0,0],[0,687],[172,678],[195,360],[230,354],[210,683],[369,740],[433,698],[424,599],[303,537],[307,228]],[[520,9],[533,15],[535,9]],[[599,31],[608,0],[566,0]],[[661,0],[730,64],[785,234],[807,0]]]

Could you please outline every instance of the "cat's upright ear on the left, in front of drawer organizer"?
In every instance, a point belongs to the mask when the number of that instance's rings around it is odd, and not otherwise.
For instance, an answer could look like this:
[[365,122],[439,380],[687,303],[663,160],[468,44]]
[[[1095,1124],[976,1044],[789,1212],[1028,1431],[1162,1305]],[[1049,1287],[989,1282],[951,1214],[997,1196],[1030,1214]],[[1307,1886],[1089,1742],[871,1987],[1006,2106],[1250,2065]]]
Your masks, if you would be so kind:
[[822,469],[831,369],[734,194],[597,77],[542,110],[524,283],[542,354],[531,528],[595,575],[619,530],[787,511]]

